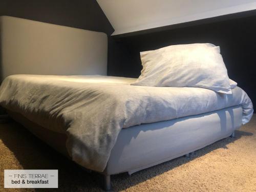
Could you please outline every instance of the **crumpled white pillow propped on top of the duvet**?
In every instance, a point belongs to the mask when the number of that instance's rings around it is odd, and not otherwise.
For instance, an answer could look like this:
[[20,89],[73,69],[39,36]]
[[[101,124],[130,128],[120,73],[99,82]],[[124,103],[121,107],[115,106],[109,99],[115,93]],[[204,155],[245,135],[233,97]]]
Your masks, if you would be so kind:
[[212,44],[168,46],[140,53],[143,69],[134,86],[199,87],[231,94],[220,47]]

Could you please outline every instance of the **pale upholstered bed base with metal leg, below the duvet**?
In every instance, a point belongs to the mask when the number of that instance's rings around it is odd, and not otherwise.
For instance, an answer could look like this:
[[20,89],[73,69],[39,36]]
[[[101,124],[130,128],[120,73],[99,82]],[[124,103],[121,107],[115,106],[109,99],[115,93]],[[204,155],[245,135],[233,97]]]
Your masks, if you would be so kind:
[[[65,134],[41,127],[22,114],[8,111],[17,122],[23,124],[38,138],[67,156]],[[111,189],[111,175],[141,169],[189,154],[226,137],[234,137],[234,131],[242,124],[241,106],[169,121],[148,123],[122,129],[111,151],[104,172],[104,189]],[[56,142],[58,141],[58,142]]]

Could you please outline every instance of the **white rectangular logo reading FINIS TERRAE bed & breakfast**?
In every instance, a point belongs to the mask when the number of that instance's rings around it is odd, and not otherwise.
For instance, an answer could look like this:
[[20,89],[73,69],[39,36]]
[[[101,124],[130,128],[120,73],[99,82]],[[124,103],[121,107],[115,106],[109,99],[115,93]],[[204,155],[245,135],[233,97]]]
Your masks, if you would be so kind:
[[58,170],[6,169],[5,188],[58,188]]

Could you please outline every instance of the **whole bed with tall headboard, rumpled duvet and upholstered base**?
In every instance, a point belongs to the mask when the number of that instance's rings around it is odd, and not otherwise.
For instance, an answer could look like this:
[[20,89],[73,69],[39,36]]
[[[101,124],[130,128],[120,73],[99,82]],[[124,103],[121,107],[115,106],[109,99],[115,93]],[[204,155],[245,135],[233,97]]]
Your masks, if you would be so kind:
[[[105,76],[107,37],[102,33],[13,17],[1,19],[5,80],[0,88],[0,104],[14,120],[58,152],[101,173],[105,189],[111,188],[111,175],[132,174],[233,136],[234,130],[247,123],[253,114],[250,98],[239,87],[232,89],[232,94],[222,94],[203,88],[132,86],[134,78]],[[13,41],[26,39],[29,33],[26,29],[29,26],[31,30],[35,25],[62,34],[61,41],[77,33],[83,40],[97,40],[97,46],[82,45],[90,47],[87,55],[95,56],[79,57],[84,65],[78,65],[70,73],[58,71],[62,61],[56,62],[51,54],[53,50],[46,48],[44,54],[30,57],[34,49],[31,45],[36,44],[39,37],[38,41],[52,40],[49,33],[44,37],[42,30],[35,32],[38,37],[29,44],[22,44],[23,47]],[[13,34],[20,29],[25,33]],[[74,40],[80,42],[80,39]],[[70,51],[85,49],[81,44],[73,46]],[[17,54],[21,49],[25,51]],[[62,52],[66,51],[69,50],[65,48]],[[44,60],[47,54],[53,57]],[[65,57],[69,61],[65,65],[78,62],[73,54]],[[45,63],[53,61],[58,67],[49,69],[48,75],[38,68],[31,68],[28,73],[23,67],[18,70],[9,67],[9,63],[17,66],[37,63],[39,68],[44,68]],[[68,67],[72,69],[71,66]],[[56,75],[51,75],[50,71]],[[86,72],[89,74],[79,75]]]

